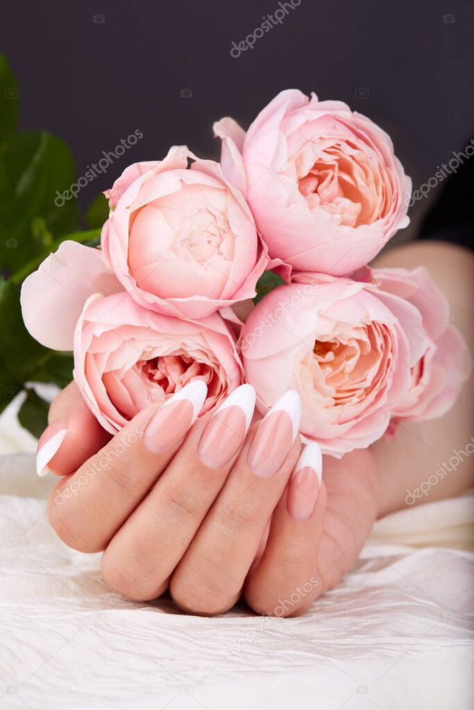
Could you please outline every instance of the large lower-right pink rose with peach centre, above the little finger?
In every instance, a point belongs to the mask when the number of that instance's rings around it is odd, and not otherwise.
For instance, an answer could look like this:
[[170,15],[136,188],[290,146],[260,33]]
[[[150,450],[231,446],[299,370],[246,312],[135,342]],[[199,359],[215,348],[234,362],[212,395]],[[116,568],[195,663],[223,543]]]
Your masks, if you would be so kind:
[[428,339],[419,310],[372,283],[295,274],[257,304],[240,345],[264,413],[301,394],[300,431],[341,457],[381,437]]

